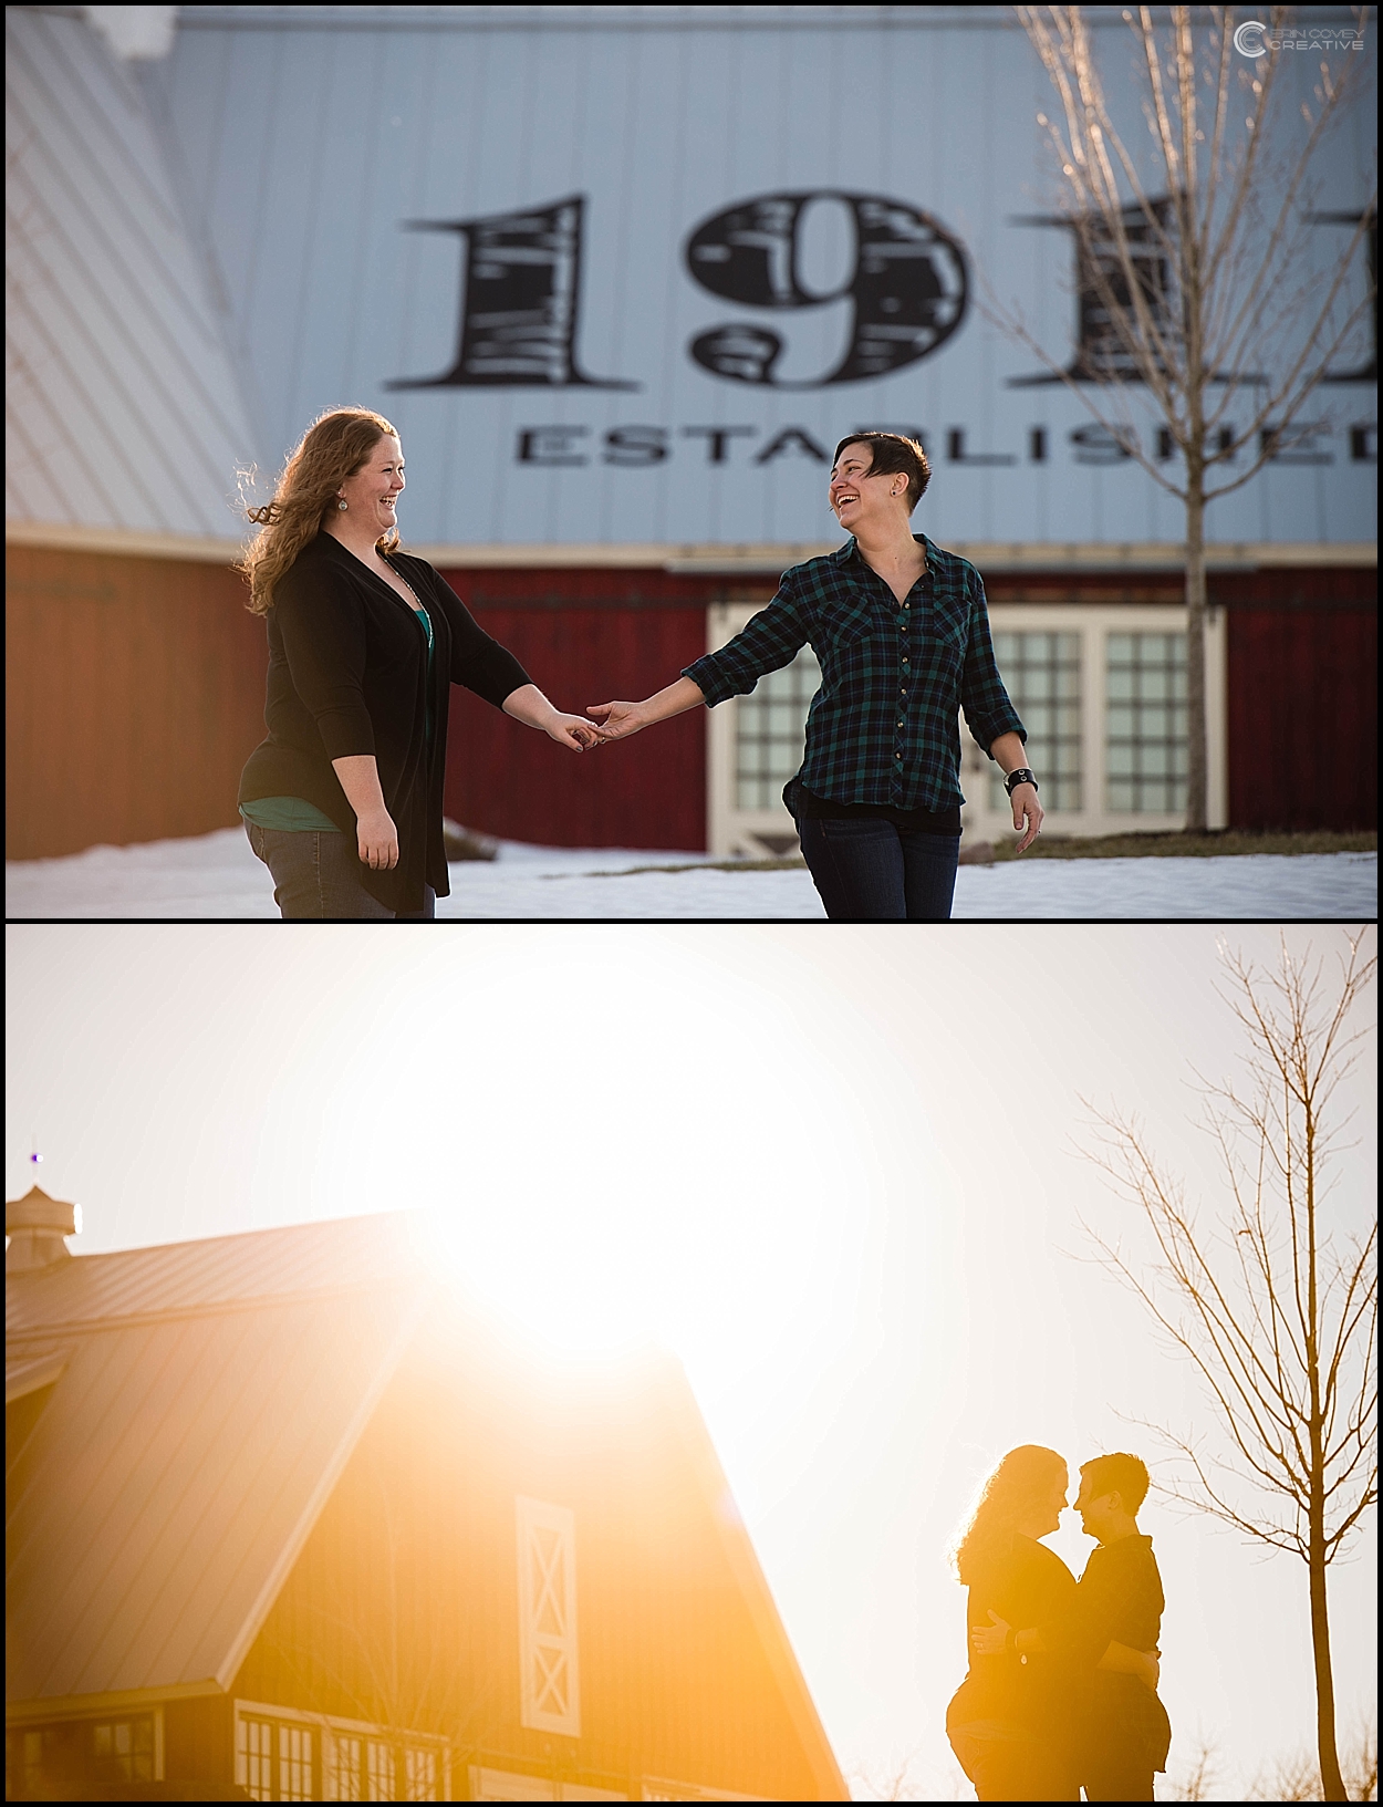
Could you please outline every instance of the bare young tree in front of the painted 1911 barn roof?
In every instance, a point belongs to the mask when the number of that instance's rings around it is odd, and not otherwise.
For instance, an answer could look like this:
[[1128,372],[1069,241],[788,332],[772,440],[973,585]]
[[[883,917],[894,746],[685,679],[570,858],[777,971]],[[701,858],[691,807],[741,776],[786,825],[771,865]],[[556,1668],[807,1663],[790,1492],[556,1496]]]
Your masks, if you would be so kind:
[[[1376,181],[1343,215],[1312,206],[1322,146],[1363,89],[1365,58],[1343,47],[1349,33],[1338,34],[1338,54],[1320,58],[1298,117],[1284,80],[1287,7],[1267,9],[1267,31],[1244,40],[1247,54],[1235,45],[1233,7],[1204,9],[1204,29],[1193,27],[1191,7],[1173,5],[1162,33],[1152,7],[1126,11],[1150,132],[1141,152],[1115,126],[1081,7],[1014,11],[1059,99],[1059,117],[1038,114],[1038,123],[1061,172],[1050,224],[1076,239],[1076,360],[1052,358],[1016,305],[991,298],[989,311],[1043,361],[1047,376],[1036,381],[1067,383],[1105,428],[1112,455],[1137,459],[1184,504],[1186,828],[1199,833],[1208,826],[1206,506],[1269,459],[1305,455],[1318,423],[1302,414],[1323,381],[1378,378],[1376,351],[1372,367],[1332,369],[1363,322],[1378,318]],[[1361,33],[1363,13],[1359,45]],[[1325,220],[1354,229],[1322,267],[1305,237]],[[1369,293],[1350,305],[1361,246],[1370,251]],[[1152,445],[1135,421],[1146,403],[1159,423]]]

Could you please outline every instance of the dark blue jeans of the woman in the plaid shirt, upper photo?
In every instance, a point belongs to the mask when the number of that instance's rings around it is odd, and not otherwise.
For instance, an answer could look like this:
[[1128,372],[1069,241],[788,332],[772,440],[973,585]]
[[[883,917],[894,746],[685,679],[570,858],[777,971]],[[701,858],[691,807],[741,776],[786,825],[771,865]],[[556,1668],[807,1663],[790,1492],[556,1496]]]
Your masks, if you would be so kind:
[[917,835],[871,817],[797,822],[832,922],[949,922],[960,835]]

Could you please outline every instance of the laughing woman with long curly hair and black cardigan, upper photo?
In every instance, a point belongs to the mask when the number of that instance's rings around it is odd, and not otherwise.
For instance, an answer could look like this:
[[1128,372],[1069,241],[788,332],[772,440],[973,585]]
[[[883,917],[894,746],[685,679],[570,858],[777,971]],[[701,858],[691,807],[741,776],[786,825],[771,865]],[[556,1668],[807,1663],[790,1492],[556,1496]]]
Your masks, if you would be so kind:
[[400,549],[403,448],[381,414],[333,408],[284,466],[240,571],[269,634],[264,721],[240,777],[249,844],[284,918],[430,918],[447,896],[450,687],[573,752],[597,744]]

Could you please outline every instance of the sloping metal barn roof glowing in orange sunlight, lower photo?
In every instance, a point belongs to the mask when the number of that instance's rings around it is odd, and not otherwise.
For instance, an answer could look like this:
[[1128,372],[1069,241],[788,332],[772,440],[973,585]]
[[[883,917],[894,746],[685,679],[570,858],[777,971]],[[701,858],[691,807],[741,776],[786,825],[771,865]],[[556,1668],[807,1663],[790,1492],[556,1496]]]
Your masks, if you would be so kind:
[[400,1214],[9,1276],[7,1699],[226,1688],[428,1294]]

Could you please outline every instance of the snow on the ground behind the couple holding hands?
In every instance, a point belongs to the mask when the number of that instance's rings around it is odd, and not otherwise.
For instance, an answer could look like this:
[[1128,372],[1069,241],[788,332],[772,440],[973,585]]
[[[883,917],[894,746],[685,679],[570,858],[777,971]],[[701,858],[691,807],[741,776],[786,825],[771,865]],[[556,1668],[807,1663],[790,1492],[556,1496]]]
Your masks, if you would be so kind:
[[[636,871],[636,867],[654,867]],[[676,871],[674,867],[689,867]],[[1195,860],[1032,860],[962,866],[956,916],[1363,922],[1378,914],[1378,855]],[[143,847],[90,847],[5,866],[14,918],[277,918],[268,871],[239,828]],[[716,871],[703,853],[526,847],[452,866],[439,916],[821,920],[803,869]]]

